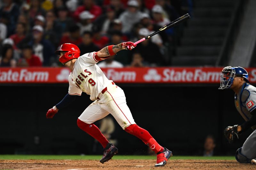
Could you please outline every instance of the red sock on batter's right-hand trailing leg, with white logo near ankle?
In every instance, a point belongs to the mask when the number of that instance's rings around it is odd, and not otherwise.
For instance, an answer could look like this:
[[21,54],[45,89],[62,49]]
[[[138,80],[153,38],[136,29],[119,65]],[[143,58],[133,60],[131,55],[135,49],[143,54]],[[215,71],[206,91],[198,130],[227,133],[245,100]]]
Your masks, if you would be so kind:
[[164,151],[164,148],[156,142],[156,140],[149,134],[149,132],[145,129],[140,128],[140,126],[132,124],[124,130],[138,137],[145,144],[147,144],[155,153]]

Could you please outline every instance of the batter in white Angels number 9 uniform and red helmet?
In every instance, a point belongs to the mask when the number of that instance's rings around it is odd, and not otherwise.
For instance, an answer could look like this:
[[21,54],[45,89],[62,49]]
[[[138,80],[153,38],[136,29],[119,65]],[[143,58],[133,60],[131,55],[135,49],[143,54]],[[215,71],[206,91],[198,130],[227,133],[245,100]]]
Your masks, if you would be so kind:
[[134,122],[131,111],[126,105],[124,91],[113,81],[108,80],[96,64],[110,55],[115,55],[120,50],[132,50],[134,47],[136,47],[136,44],[133,42],[124,42],[107,46],[98,52],[86,53],[80,56],[80,50],[76,45],[62,44],[55,54],[60,55],[60,62],[71,70],[68,78],[68,94],[60,103],[48,110],[46,117],[52,118],[58,110],[64,108],[74,101],[76,96],[85,92],[90,95],[93,102],[78,117],[77,126],[98,140],[103,146],[104,152],[102,159],[100,159],[101,163],[111,159],[118,150],[108,142],[93,122],[110,113],[126,132],[140,138],[157,154],[155,166],[164,166],[172,156],[172,152],[159,145],[147,130],[140,128]]

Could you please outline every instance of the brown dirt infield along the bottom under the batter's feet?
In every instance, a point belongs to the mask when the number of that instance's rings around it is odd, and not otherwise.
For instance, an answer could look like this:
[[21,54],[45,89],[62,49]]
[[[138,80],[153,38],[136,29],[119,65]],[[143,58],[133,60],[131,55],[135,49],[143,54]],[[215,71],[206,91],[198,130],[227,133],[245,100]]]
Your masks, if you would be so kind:
[[155,160],[0,160],[0,169],[13,170],[149,170],[149,169],[256,169],[256,165],[239,164],[235,160],[169,160],[164,167],[154,167]]

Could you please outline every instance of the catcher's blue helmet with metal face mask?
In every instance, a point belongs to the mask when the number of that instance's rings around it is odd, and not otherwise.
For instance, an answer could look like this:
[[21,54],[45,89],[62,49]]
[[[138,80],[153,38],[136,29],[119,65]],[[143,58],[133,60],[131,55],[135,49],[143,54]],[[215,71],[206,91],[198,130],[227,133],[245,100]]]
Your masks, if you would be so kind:
[[228,66],[222,70],[222,73],[223,75],[221,75],[219,89],[229,89],[233,83],[235,76],[243,77],[244,81],[246,81],[247,83],[250,83],[248,80],[248,72],[243,67]]

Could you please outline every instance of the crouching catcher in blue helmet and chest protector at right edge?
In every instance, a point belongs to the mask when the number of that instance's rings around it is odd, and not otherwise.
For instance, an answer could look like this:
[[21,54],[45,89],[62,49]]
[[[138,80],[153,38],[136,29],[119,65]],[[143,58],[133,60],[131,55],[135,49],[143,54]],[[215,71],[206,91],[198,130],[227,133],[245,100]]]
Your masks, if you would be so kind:
[[252,128],[252,134],[246,139],[243,146],[236,151],[236,160],[239,163],[256,164],[256,87],[250,85],[248,73],[242,67],[225,67],[222,70],[220,88],[232,89],[235,92],[235,106],[245,122],[241,125],[228,126],[224,134],[229,143]]

